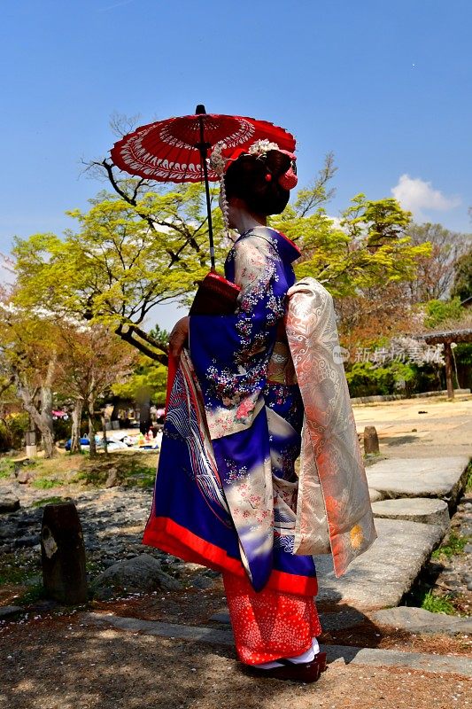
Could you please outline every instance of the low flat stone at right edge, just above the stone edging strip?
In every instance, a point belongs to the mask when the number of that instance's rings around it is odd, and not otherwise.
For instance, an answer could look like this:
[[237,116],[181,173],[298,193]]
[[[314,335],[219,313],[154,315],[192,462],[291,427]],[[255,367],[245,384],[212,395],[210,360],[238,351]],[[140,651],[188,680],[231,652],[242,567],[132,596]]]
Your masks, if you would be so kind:
[[381,626],[398,627],[410,633],[472,633],[472,618],[431,613],[424,608],[406,605],[376,611],[370,614],[370,618]]

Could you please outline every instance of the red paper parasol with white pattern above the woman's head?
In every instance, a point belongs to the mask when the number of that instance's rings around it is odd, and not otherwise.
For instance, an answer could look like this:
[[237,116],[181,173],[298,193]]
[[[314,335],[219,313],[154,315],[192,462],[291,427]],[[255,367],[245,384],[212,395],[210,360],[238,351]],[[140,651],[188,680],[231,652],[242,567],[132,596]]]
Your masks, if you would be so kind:
[[285,129],[268,121],[244,116],[206,113],[197,105],[195,114],[169,118],[141,126],[124,136],[112,148],[112,161],[117,168],[159,182],[200,182],[205,180],[210,253],[214,269],[213,228],[208,181],[219,180],[207,157],[212,147],[224,141],[228,151],[248,147],[267,139],[282,150],[294,152],[295,138]]

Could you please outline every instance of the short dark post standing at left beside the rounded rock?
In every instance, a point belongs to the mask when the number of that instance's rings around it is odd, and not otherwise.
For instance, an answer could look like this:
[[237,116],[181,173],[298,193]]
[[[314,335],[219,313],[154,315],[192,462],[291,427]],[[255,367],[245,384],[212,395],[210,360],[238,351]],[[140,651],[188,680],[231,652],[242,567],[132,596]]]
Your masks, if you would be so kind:
[[66,605],[85,603],[85,548],[81,520],[74,503],[44,507],[41,557],[47,594]]

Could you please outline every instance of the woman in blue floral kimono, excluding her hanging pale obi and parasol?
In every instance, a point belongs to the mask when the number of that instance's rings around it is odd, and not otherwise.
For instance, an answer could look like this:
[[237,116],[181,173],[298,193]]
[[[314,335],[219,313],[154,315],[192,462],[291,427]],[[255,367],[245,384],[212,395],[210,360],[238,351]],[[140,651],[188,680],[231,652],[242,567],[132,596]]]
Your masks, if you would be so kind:
[[235,314],[184,317],[171,334],[175,373],[143,543],[222,573],[244,665],[314,682],[326,654],[313,557],[294,553],[304,404],[283,325],[300,253],[267,227],[297,183],[294,160],[259,141],[225,163],[222,208],[239,232],[225,275],[241,292]]

